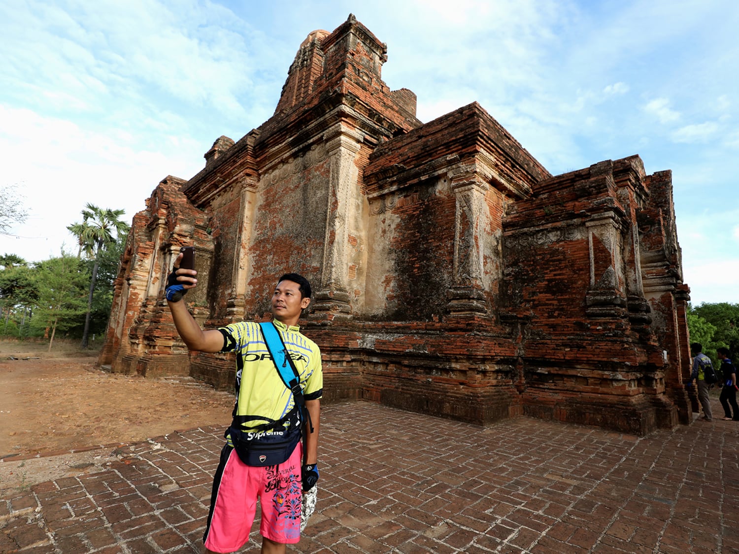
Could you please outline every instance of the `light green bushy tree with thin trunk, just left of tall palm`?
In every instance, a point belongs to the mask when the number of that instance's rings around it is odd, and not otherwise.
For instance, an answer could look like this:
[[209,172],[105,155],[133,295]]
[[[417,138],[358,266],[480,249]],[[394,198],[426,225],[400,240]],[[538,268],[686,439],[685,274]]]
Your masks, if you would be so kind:
[[49,350],[57,331],[74,325],[85,312],[89,273],[83,261],[65,253],[36,264],[33,281],[37,293],[31,325],[44,330]]

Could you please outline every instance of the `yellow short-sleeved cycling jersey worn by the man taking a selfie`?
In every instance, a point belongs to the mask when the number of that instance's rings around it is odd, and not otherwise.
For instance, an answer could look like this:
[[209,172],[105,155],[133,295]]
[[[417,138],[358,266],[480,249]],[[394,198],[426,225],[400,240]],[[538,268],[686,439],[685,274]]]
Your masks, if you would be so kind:
[[[323,395],[321,350],[302,335],[299,326],[273,321],[300,376],[305,400]],[[293,394],[282,382],[262,337],[259,324],[241,321],[219,328],[224,336],[221,352],[236,353],[236,415],[248,417],[246,428],[282,419],[293,409]]]

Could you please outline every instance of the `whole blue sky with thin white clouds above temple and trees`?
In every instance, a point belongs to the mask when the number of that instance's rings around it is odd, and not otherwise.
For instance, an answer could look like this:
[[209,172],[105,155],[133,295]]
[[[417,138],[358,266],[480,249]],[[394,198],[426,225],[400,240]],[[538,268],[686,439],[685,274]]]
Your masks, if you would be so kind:
[[424,122],[477,100],[553,174],[632,154],[672,170],[693,303],[739,303],[735,0],[6,0],[0,186],[30,216],[0,253],[76,252],[86,202],[130,221],[267,120],[303,39],[350,13]]

